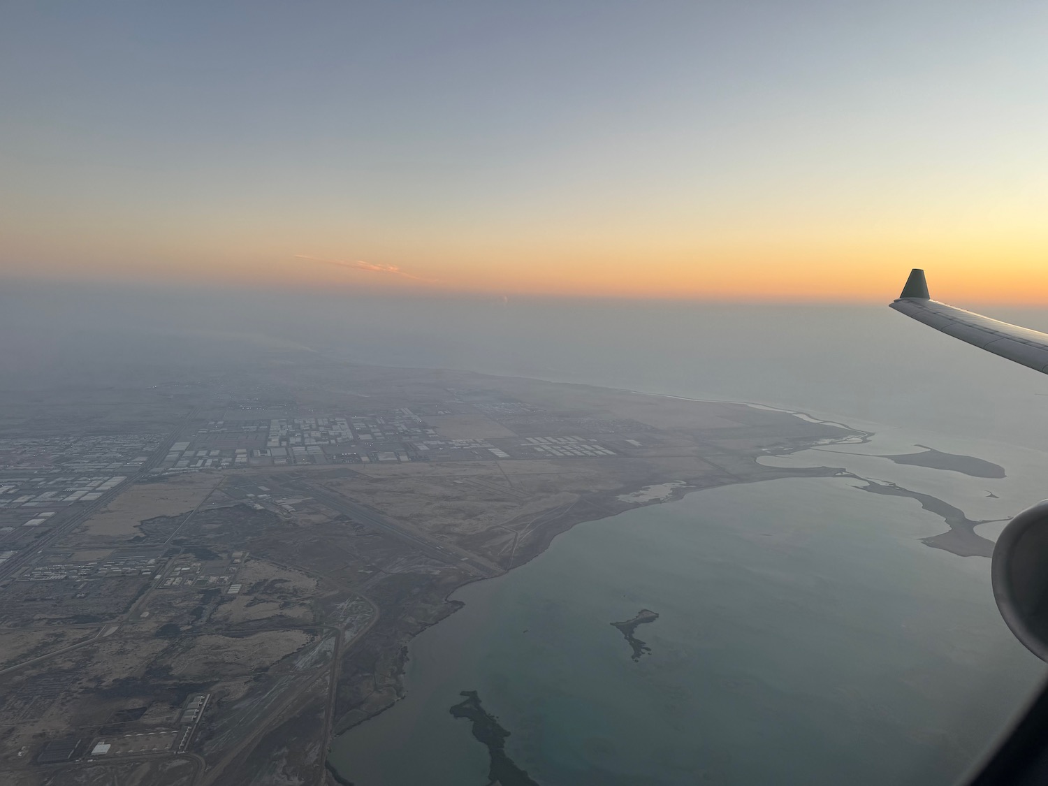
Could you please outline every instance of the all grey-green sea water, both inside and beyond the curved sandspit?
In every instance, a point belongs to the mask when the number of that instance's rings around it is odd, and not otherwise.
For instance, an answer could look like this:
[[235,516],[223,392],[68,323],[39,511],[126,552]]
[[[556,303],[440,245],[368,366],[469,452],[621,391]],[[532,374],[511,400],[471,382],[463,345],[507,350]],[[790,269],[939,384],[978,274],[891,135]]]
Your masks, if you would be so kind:
[[[463,327],[405,365],[845,422],[871,439],[761,461],[932,495],[985,520],[990,540],[1048,497],[1045,377],[887,308],[679,305],[623,321],[614,304],[589,305],[585,329],[578,309],[528,308],[489,309],[484,331]],[[917,445],[1006,477],[883,458]],[[940,517],[864,485],[724,486],[575,526],[457,591],[464,607],[409,648],[407,698],[336,739],[331,762],[357,786],[482,786],[488,751],[449,713],[477,691],[510,733],[507,755],[544,786],[956,782],[1044,668],[1001,620],[989,560],[924,545],[946,530]],[[636,629],[651,652],[634,661],[611,623],[643,608],[659,617]]]

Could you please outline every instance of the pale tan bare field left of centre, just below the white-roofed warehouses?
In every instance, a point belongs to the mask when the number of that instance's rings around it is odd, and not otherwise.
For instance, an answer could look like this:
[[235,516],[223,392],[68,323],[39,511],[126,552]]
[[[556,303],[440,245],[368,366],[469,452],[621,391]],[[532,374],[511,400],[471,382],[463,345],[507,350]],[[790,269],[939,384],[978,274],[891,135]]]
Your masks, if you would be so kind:
[[163,483],[131,485],[105,509],[88,519],[77,534],[80,538],[130,540],[141,534],[138,524],[143,521],[189,512],[221,481],[222,476],[217,474],[188,473]]

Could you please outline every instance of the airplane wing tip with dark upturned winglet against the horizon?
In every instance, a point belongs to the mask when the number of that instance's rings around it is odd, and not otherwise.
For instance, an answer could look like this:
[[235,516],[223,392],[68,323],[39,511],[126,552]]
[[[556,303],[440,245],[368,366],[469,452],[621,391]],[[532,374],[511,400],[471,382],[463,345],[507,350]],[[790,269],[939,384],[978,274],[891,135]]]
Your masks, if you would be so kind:
[[932,300],[923,270],[910,272],[902,294],[891,307],[946,335],[1048,374],[1048,334]]

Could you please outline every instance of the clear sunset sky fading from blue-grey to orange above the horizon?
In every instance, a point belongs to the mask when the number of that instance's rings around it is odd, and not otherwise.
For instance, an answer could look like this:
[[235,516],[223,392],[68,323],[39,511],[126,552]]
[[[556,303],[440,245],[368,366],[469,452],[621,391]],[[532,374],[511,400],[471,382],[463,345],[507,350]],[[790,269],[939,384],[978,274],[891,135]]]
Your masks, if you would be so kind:
[[0,280],[1048,304],[1048,4],[0,6]]

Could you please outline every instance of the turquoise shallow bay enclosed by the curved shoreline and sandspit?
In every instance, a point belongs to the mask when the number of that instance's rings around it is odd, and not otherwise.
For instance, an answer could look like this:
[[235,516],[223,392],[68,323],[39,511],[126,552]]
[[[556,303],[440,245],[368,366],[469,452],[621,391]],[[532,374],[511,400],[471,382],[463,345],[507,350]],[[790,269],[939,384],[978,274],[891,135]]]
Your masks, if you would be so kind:
[[[487,751],[449,714],[473,690],[544,785],[952,783],[1042,667],[988,560],[927,548],[941,519],[856,485],[727,486],[574,527],[459,590],[412,642],[407,698],[332,762],[357,786],[482,786]],[[641,608],[660,616],[634,662],[610,623]]]

